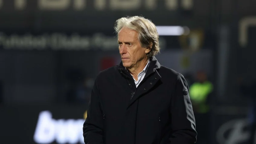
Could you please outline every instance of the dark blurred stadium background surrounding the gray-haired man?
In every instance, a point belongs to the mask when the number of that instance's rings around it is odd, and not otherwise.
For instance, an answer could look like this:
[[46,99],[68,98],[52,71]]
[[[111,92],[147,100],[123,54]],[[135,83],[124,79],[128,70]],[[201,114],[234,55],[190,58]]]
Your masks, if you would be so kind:
[[254,143],[255,0],[0,0],[0,143],[83,144],[97,74],[120,63],[114,22],[155,23],[182,73],[198,144]]

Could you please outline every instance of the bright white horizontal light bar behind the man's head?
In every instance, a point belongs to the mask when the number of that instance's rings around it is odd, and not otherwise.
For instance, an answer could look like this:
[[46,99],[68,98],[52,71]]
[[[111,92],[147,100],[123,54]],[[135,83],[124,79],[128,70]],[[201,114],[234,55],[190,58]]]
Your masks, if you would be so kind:
[[189,34],[189,28],[182,26],[156,26],[156,29],[160,36]]

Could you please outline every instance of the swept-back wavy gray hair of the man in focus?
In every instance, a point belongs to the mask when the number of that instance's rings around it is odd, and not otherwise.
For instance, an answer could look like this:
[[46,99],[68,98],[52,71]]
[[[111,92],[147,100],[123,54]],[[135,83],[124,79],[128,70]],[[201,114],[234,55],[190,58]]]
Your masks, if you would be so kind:
[[139,33],[139,41],[142,47],[149,47],[152,43],[151,51],[147,54],[147,57],[153,57],[160,52],[159,34],[151,20],[141,16],[119,18],[114,26],[116,33],[118,34],[123,27]]

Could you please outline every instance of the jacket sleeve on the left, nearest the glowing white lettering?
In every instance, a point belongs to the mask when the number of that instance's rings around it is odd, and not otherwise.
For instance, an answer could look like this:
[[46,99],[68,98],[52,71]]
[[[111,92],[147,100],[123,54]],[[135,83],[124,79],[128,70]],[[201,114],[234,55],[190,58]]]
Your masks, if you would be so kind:
[[100,92],[95,80],[83,126],[85,144],[103,144],[103,111],[100,103]]

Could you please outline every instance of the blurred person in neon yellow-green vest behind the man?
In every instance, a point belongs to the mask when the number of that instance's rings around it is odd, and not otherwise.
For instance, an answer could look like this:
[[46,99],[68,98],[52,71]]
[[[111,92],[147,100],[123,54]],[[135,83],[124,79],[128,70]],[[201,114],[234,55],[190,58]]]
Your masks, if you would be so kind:
[[189,87],[190,99],[192,102],[196,131],[198,132],[197,144],[209,143],[209,97],[212,95],[213,84],[208,80],[204,71],[198,71],[196,74],[196,82]]

